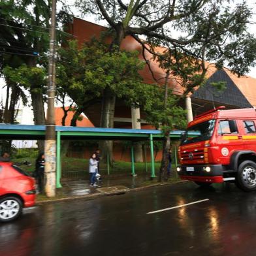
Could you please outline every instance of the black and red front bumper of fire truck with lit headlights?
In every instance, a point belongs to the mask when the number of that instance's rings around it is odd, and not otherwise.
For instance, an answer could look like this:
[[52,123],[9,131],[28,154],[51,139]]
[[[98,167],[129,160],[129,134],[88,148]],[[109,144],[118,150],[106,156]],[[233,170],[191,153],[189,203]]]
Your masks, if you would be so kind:
[[182,180],[192,180],[194,182],[222,183],[223,165],[197,165],[184,166],[177,168],[178,174]]

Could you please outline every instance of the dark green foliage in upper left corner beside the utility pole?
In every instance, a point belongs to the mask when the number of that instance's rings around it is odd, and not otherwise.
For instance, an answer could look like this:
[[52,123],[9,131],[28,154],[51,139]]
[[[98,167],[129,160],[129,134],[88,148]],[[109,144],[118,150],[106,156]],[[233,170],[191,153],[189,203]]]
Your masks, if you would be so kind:
[[[46,69],[42,63],[47,68],[51,4],[51,0],[0,2],[0,74],[4,75],[7,85],[11,81],[31,93],[44,93]],[[62,2],[59,7],[57,25],[69,20],[65,14],[67,5]],[[63,33],[57,31],[57,41],[60,40]],[[20,94],[26,104],[25,93]]]

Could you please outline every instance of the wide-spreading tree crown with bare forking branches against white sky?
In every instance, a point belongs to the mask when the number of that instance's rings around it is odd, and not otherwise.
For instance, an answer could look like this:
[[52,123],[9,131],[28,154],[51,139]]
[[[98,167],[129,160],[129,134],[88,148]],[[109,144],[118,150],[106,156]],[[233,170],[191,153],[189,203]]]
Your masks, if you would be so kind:
[[[228,67],[238,74],[249,71],[255,62],[255,37],[248,31],[252,10],[246,2],[229,0],[148,1],[77,0],[84,14],[106,20],[114,30],[113,41],[120,46],[131,35],[140,43],[165,46],[196,59],[214,61],[217,67]],[[183,35],[174,37],[174,31]]]

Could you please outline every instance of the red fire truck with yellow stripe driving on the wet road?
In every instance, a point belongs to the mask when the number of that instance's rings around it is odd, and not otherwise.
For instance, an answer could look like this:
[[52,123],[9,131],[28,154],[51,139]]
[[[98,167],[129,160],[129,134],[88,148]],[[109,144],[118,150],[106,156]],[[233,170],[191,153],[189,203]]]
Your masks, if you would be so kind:
[[182,136],[180,178],[202,186],[235,182],[244,191],[256,190],[255,121],[254,108],[220,106],[196,116]]

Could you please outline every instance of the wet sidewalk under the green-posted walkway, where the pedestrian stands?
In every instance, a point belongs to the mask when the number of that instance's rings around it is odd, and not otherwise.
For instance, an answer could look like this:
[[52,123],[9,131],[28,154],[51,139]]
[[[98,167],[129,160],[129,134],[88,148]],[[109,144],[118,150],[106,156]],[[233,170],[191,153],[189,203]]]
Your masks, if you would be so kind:
[[104,176],[103,181],[99,183],[99,187],[89,187],[88,180],[64,180],[61,182],[63,186],[57,189],[56,199],[48,199],[45,196],[39,195],[37,202],[44,202],[48,200],[63,200],[79,197],[97,197],[99,195],[117,195],[126,193],[127,191],[135,189],[143,189],[155,185],[166,185],[181,182],[179,178],[172,174],[167,182],[159,184],[157,178],[150,179],[150,174],[138,174],[138,176],[131,176],[124,174],[123,176]]

